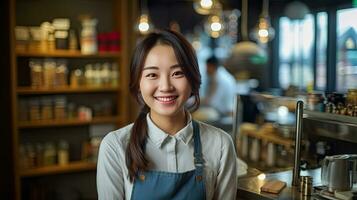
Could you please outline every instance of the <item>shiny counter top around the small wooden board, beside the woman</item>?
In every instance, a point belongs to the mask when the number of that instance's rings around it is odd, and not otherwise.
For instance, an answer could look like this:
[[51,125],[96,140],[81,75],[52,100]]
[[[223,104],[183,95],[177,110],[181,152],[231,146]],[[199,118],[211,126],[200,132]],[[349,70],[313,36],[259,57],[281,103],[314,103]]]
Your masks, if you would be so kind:
[[[261,174],[256,169],[248,168],[248,173],[238,178],[237,199],[274,199],[274,200],[313,200],[315,196],[304,196],[298,187],[292,187],[292,170],[266,174],[265,179],[259,179]],[[301,171],[301,176],[313,177],[313,186],[321,185],[321,169]],[[268,180],[280,180],[286,182],[286,187],[279,194],[261,192],[260,187]]]

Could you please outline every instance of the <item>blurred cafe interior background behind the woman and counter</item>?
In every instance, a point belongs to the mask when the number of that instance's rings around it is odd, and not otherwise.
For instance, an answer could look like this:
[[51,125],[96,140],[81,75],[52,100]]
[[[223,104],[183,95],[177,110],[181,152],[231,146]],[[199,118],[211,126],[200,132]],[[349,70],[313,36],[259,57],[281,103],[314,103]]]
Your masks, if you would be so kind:
[[357,153],[357,1],[6,0],[0,13],[2,199],[97,198],[100,140],[136,116],[130,55],[155,28],[185,35],[203,82],[211,55],[235,77],[233,115],[194,117],[231,134],[248,168],[292,168],[298,100],[304,169]]

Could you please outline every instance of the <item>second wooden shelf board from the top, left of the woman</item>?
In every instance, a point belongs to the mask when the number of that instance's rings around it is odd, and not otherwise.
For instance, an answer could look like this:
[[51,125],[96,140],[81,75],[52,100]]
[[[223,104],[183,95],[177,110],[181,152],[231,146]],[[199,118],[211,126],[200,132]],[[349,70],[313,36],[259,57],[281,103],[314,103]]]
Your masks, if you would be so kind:
[[56,87],[56,88],[32,88],[18,87],[16,89],[19,95],[32,94],[68,94],[68,93],[95,93],[95,92],[116,92],[119,87],[100,86],[100,87]]

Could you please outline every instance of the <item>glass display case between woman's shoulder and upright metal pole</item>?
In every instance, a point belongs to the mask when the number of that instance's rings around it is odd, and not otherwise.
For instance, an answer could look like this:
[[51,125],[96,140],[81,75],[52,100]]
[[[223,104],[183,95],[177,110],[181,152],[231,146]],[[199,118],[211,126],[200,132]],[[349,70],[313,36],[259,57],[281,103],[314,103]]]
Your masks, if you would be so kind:
[[233,132],[238,155],[248,166],[264,172],[292,168],[296,101],[260,93],[237,96]]

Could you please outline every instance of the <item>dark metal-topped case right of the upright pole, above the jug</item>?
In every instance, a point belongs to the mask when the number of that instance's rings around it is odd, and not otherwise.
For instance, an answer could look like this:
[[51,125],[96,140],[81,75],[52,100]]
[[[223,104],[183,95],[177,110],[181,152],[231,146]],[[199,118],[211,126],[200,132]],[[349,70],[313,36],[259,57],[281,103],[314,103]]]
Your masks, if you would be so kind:
[[304,110],[303,134],[309,153],[303,159],[311,168],[321,165],[325,156],[356,154],[357,117]]

